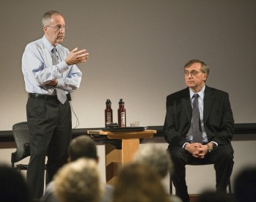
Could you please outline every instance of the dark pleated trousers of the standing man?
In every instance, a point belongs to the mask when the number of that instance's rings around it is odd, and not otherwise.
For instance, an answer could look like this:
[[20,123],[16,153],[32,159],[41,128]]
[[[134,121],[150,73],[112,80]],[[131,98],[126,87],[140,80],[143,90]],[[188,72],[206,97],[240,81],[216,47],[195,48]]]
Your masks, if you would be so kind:
[[45,157],[46,179],[50,182],[56,171],[67,162],[67,146],[71,139],[71,110],[68,101],[29,98],[26,115],[30,132],[30,160],[26,182],[32,198],[43,195]]

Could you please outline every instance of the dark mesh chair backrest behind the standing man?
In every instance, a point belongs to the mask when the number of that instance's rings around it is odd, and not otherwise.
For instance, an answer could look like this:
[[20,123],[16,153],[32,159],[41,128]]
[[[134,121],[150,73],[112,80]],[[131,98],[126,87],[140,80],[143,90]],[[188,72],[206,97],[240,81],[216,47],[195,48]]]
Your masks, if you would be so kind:
[[14,124],[12,134],[17,150],[12,153],[12,162],[18,162],[30,156],[29,127],[26,121]]

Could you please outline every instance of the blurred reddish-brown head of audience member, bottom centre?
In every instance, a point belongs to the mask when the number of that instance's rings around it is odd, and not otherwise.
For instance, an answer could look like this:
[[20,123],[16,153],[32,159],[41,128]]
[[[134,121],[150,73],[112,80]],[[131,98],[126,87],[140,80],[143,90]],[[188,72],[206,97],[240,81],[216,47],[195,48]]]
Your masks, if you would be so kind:
[[169,201],[161,177],[150,166],[131,162],[120,171],[113,194],[114,202]]

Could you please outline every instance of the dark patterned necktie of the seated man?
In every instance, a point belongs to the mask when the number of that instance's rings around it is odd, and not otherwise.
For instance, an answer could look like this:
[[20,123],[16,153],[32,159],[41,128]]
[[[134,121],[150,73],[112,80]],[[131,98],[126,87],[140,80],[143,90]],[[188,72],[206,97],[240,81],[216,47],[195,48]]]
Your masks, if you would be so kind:
[[192,109],[192,123],[191,130],[193,135],[194,143],[202,143],[202,130],[201,130],[201,121],[200,121],[200,111],[198,106],[198,94],[194,94],[194,102]]

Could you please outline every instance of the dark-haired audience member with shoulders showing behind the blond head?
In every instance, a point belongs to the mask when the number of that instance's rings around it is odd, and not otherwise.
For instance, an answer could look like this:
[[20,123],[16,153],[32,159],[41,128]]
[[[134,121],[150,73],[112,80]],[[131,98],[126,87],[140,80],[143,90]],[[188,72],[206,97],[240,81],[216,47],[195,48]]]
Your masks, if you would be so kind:
[[[95,160],[96,162],[99,160],[95,142],[92,140],[92,138],[89,138],[89,136],[81,135],[74,138],[70,142],[67,152],[69,154],[69,161],[75,161],[81,157],[87,157]],[[43,195],[43,198],[41,198],[42,202],[58,202],[58,199],[54,195],[54,187],[54,182],[50,182],[47,185],[45,194]],[[114,187],[106,184],[101,202],[109,201],[113,191]]]

